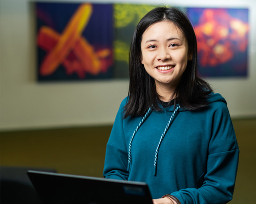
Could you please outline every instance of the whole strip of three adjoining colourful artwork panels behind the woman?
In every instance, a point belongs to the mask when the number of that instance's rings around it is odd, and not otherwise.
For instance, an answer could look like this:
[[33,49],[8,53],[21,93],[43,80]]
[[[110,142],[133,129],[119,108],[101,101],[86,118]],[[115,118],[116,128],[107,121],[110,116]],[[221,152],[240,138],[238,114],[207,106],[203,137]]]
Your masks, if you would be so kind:
[[[129,78],[129,51],[139,20],[155,5],[35,3],[37,79]],[[201,77],[246,77],[248,9],[180,8],[198,41]]]

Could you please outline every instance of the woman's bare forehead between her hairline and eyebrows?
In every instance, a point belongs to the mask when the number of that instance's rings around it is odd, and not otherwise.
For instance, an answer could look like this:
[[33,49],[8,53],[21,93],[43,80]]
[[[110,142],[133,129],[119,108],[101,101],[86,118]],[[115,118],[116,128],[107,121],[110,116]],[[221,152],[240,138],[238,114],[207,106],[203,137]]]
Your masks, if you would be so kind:
[[179,38],[181,40],[185,39],[185,35],[178,28],[178,26],[169,20],[164,20],[160,22],[156,22],[150,27],[148,27],[143,35],[142,41],[148,40],[148,38]]

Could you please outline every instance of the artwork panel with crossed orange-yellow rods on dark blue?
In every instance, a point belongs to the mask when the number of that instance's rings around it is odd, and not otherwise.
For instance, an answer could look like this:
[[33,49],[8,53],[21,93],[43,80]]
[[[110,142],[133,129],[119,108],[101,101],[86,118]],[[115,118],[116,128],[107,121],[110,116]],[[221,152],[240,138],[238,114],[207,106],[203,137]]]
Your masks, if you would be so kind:
[[39,82],[113,78],[111,4],[35,6]]

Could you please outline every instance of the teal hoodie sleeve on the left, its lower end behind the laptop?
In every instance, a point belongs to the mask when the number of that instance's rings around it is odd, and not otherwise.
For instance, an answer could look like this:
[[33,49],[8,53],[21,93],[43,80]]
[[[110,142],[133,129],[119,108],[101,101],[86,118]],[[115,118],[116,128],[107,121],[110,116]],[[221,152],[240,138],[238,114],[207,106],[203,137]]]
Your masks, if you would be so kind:
[[127,147],[123,133],[123,107],[126,98],[122,101],[118,110],[111,135],[106,144],[105,163],[103,176],[107,179],[127,180]]

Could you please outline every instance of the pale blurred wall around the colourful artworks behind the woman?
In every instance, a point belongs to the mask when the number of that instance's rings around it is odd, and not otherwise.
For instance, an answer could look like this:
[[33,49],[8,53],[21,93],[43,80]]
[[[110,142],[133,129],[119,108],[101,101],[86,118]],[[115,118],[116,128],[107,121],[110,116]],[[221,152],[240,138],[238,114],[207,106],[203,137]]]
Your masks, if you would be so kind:
[[[109,3],[155,2],[112,0]],[[249,8],[249,76],[244,79],[208,81],[216,92],[226,98],[231,117],[255,117],[256,69],[253,65],[256,64],[256,2],[160,0],[159,4],[181,7]],[[0,131],[112,124],[121,100],[127,95],[127,80],[47,84],[36,82],[35,22],[32,8],[30,0],[0,1]]]

